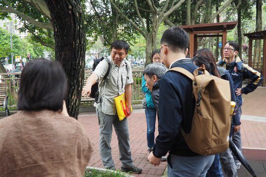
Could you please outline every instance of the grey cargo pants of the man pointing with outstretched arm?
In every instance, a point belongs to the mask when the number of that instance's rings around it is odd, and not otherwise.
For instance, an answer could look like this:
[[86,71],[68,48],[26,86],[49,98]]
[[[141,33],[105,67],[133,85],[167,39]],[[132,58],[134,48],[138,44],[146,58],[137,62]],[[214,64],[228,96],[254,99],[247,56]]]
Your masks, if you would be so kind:
[[111,153],[112,125],[118,139],[119,159],[123,168],[133,166],[131,157],[128,118],[119,121],[117,115],[106,115],[101,112],[100,106],[96,108],[100,126],[100,157],[105,168],[115,169]]

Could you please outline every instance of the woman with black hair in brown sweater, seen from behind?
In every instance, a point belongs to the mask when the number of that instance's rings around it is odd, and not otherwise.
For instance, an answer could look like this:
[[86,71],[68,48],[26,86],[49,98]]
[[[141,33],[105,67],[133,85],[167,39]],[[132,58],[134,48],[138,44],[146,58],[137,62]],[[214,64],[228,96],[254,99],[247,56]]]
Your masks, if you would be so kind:
[[1,177],[84,177],[92,145],[66,111],[58,62],[35,59],[21,73],[19,112],[0,119]]

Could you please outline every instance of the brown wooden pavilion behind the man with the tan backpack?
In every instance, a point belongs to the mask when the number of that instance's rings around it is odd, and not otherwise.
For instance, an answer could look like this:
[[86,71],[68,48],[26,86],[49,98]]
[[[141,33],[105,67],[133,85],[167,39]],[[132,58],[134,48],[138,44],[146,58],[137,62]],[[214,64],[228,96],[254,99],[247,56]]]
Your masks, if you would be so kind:
[[[234,29],[237,22],[182,25],[180,28],[189,32],[189,56],[193,57],[198,50],[198,37],[222,37],[222,49],[227,40],[227,30]],[[224,54],[222,53],[222,59]]]

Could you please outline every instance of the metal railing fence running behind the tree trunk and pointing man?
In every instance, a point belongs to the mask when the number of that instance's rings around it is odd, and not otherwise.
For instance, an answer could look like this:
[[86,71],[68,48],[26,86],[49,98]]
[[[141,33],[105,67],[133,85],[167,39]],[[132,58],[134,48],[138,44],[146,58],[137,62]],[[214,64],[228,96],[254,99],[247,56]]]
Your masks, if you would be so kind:
[[[133,70],[133,87],[132,87],[132,101],[133,104],[140,104],[143,100],[143,93],[141,90],[141,78],[143,70]],[[0,73],[0,82],[6,83],[6,93],[8,94],[8,108],[16,108],[18,103],[18,89],[20,85],[20,74],[18,73]],[[85,71],[84,77],[84,86],[86,84],[86,80],[91,74],[91,70]],[[86,104],[82,102],[82,104]]]

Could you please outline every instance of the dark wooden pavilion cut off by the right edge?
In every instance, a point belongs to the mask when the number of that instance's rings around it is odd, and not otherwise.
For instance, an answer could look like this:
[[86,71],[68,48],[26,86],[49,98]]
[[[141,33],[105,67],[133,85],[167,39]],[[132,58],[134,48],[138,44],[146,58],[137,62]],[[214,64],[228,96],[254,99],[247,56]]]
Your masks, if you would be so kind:
[[[247,36],[248,41],[248,65],[258,71],[261,71],[263,74],[263,87],[266,87],[266,30],[246,33],[244,36]],[[263,39],[263,62],[252,63],[252,40]]]

